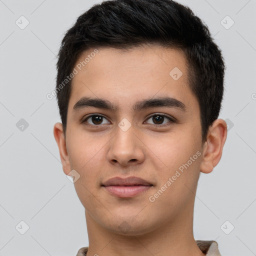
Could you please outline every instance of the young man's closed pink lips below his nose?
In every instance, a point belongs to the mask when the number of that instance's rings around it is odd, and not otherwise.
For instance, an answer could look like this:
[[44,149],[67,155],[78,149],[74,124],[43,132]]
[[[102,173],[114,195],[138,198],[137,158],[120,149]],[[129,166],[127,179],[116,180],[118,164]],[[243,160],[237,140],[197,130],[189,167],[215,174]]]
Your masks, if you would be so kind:
[[149,189],[153,184],[135,176],[127,178],[113,177],[105,182],[102,186],[112,195],[118,197],[131,197]]

